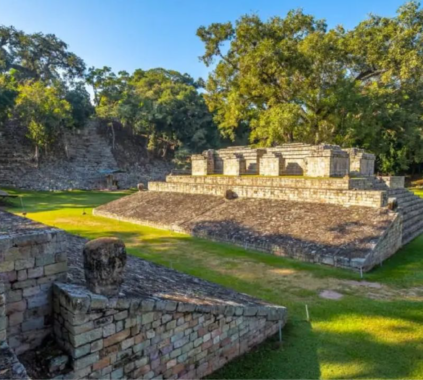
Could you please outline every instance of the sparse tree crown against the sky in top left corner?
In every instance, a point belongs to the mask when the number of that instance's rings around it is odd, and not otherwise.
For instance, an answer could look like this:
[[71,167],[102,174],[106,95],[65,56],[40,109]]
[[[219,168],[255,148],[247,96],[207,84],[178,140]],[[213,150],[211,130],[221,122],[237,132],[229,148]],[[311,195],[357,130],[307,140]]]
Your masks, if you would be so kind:
[[51,83],[82,77],[85,64],[54,34],[26,34],[12,26],[0,26],[0,73],[12,69],[21,81]]

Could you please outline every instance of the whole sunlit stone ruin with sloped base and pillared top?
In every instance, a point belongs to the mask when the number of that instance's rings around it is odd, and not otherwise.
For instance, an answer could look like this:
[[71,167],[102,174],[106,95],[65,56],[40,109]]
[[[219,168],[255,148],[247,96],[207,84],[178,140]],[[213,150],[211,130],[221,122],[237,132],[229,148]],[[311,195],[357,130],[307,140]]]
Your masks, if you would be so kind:
[[94,214],[278,256],[369,271],[423,232],[423,200],[375,156],[336,145],[230,147]]

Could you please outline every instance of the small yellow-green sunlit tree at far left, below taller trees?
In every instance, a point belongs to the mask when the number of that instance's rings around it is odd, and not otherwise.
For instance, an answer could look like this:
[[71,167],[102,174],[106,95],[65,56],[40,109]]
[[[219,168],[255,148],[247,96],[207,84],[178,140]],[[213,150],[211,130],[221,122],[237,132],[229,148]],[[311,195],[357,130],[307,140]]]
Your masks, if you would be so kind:
[[27,81],[18,87],[15,112],[28,125],[28,136],[35,145],[35,159],[39,148],[53,143],[71,119],[71,105],[64,100],[60,89],[42,82]]

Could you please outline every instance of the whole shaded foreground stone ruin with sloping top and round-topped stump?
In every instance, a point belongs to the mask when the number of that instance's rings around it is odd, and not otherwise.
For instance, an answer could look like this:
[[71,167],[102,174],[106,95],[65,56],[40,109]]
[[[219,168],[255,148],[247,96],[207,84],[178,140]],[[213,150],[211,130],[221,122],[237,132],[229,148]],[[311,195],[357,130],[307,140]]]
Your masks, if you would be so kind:
[[0,225],[2,380],[195,380],[285,325],[284,307],[127,257],[118,239],[1,211]]

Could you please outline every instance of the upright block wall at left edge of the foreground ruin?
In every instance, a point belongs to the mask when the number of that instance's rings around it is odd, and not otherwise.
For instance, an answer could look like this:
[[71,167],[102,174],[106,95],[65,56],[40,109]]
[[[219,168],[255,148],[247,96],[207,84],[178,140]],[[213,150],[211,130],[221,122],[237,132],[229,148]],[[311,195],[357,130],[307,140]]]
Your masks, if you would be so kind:
[[67,271],[64,233],[0,212],[0,277],[6,294],[8,343],[17,354],[52,331],[51,286]]

